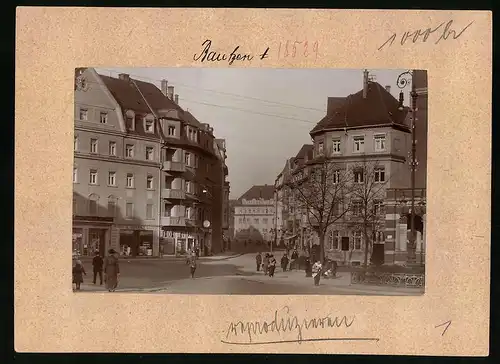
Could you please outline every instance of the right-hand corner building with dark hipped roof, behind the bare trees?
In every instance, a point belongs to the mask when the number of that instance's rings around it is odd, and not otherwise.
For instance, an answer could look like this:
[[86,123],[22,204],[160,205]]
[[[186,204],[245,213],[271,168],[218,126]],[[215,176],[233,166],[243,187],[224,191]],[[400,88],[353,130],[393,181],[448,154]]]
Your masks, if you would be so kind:
[[[327,255],[340,263],[362,264],[364,261],[365,235],[369,230],[373,243],[385,241],[384,199],[387,189],[405,188],[409,183],[408,151],[411,131],[407,123],[407,110],[400,107],[390,90],[370,80],[364,73],[363,89],[344,100],[329,100],[327,115],[310,132],[314,140],[314,160],[327,158],[336,162],[338,168],[350,171],[350,183],[364,183],[368,178],[376,184],[374,189],[380,200],[372,201],[376,206],[377,221],[359,221],[359,201],[347,196],[349,213],[336,221],[328,230],[325,250]],[[360,164],[370,164],[367,170],[357,170]],[[372,207],[370,207],[372,208]],[[364,226],[363,226],[364,225]],[[369,225],[369,226],[367,226]],[[363,228],[361,228],[363,226]],[[343,238],[349,244],[342,244]],[[318,244],[315,234],[312,244]],[[343,246],[344,245],[344,246]],[[371,249],[371,244],[368,245]],[[371,255],[371,251],[370,251]]]

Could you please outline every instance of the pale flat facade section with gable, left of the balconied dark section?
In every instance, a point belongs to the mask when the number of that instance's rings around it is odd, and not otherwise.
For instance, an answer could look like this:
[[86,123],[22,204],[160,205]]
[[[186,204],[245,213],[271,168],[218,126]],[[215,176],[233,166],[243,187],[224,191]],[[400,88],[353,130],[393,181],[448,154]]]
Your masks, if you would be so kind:
[[75,81],[73,249],[157,255],[155,116],[136,88],[117,99],[92,68],[77,69]]

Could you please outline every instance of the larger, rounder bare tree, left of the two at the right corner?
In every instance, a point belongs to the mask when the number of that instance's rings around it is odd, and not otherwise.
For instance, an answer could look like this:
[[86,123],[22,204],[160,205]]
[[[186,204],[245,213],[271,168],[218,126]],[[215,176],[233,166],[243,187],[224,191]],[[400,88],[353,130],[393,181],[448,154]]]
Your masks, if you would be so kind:
[[318,234],[320,260],[325,258],[325,236],[328,228],[349,210],[352,176],[344,163],[328,158],[315,160],[304,169],[301,179],[292,183],[298,207],[305,211],[307,223]]

